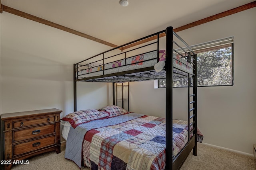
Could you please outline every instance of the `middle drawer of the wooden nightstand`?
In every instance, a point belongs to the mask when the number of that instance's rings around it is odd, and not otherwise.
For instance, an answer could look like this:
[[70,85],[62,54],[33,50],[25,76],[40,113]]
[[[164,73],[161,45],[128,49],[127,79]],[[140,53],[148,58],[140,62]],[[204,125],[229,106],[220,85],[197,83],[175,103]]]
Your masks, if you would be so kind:
[[13,142],[40,137],[55,132],[55,124],[32,127],[13,132]]

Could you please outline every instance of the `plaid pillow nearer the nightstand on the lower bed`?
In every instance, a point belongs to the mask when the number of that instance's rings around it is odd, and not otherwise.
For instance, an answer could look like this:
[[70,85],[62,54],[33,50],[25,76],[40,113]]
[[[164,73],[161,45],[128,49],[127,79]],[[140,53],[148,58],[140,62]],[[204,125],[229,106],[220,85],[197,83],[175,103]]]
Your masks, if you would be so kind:
[[68,121],[73,128],[76,128],[82,123],[86,123],[96,119],[108,118],[109,113],[105,111],[98,111],[96,109],[80,110],[73,113],[69,113],[62,118],[64,121]]

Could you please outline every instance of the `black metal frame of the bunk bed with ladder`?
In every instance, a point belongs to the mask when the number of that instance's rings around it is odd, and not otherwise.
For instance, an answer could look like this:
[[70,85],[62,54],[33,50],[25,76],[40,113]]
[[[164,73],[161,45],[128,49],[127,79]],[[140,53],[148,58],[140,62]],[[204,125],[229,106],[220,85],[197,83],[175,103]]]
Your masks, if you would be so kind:
[[[138,41],[147,39],[149,37],[157,35],[157,51],[159,51],[159,35],[161,33],[166,33],[166,61],[165,61],[165,71],[166,71],[166,166],[165,169],[180,169],[186,158],[188,157],[189,153],[193,149],[193,155],[197,155],[197,56],[196,54],[190,49],[190,47],[186,44],[184,40],[182,40],[174,31],[173,27],[167,27],[166,30],[160,31],[158,33],[154,33],[152,35],[148,35],[146,37],[143,37],[141,39],[137,39],[135,41],[132,41],[130,43],[126,43],[124,45],[115,47],[114,49],[110,49],[108,51],[105,51],[103,53],[100,53],[98,55],[95,55],[93,57],[90,57],[84,61],[88,61],[89,59],[92,59],[94,57],[97,57],[99,55],[103,55],[103,66],[104,66],[104,54],[115,50],[115,49],[122,49],[122,47],[125,47],[126,45],[130,45],[132,43],[136,43]],[[173,36],[176,36],[186,47],[181,47],[178,45],[175,41],[173,41]],[[173,49],[174,43],[180,47],[180,51],[177,51]],[[150,43],[152,44],[152,43]],[[148,44],[148,45],[150,45]],[[143,46],[144,47],[144,46]],[[139,47],[140,48],[140,47]],[[133,49],[134,50],[134,49]],[[187,51],[186,51],[187,50]],[[187,73],[188,78],[188,135],[192,134],[192,137],[188,137],[188,143],[186,143],[185,147],[176,155],[176,157],[172,160],[172,119],[173,119],[173,60],[175,60],[172,57],[173,51],[178,53],[179,55],[182,55],[187,59],[187,61],[191,64],[193,64],[193,74]],[[126,52],[123,52],[127,53]],[[111,57],[114,57],[116,55],[113,55]],[[107,57],[110,58],[110,57]],[[79,81],[86,81],[86,82],[112,82],[113,83],[113,104],[115,101],[114,98],[114,83],[115,82],[129,82],[129,81],[144,81],[144,80],[159,80],[163,79],[162,76],[155,76],[151,77],[143,77],[143,76],[137,76],[132,75],[133,73],[137,72],[148,72],[151,70],[154,70],[154,66],[146,67],[146,68],[139,68],[136,70],[128,70],[123,72],[117,72],[112,74],[104,74],[103,69],[103,75],[100,76],[92,76],[87,78],[78,78],[78,71],[83,70],[81,67],[86,66],[86,68],[90,68],[89,64],[80,64],[84,61],[81,61],[79,63],[74,64],[74,111],[77,111],[77,96],[76,96],[76,82]],[[159,61],[159,53],[157,53],[157,62]],[[95,61],[94,61],[95,62]],[[94,63],[93,62],[93,63]],[[140,62],[138,62],[140,63]],[[184,71],[184,70],[183,70]],[[184,76],[184,75],[183,75]],[[191,83],[191,78],[193,79],[193,82]],[[191,94],[191,86],[193,86],[192,94]],[[192,130],[190,130],[190,127],[193,127]],[[171,161],[172,160],[172,164]]]

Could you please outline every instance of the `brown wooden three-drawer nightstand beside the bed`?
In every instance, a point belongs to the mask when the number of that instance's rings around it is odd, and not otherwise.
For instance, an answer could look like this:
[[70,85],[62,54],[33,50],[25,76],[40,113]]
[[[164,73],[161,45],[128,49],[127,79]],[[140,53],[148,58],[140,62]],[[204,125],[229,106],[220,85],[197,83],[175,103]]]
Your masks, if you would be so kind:
[[44,109],[2,114],[1,167],[9,170],[14,161],[52,150],[60,153],[61,112]]

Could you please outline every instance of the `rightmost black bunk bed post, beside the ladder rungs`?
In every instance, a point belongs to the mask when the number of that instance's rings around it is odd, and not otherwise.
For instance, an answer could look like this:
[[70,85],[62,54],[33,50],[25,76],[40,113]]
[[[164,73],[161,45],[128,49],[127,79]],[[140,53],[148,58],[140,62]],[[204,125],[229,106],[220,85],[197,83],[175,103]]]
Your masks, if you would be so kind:
[[[193,78],[193,93],[195,94],[194,96],[194,104],[193,104],[193,107],[195,108],[194,109],[194,117],[193,117],[193,121],[195,121],[195,132],[194,132],[194,135],[195,135],[195,140],[197,140],[197,54],[194,55],[194,61],[193,63],[195,64],[194,65],[194,78]],[[193,155],[197,155],[197,141],[195,142],[195,146],[193,148]]]

